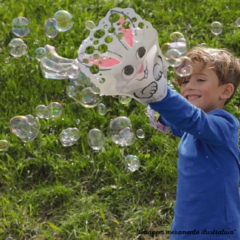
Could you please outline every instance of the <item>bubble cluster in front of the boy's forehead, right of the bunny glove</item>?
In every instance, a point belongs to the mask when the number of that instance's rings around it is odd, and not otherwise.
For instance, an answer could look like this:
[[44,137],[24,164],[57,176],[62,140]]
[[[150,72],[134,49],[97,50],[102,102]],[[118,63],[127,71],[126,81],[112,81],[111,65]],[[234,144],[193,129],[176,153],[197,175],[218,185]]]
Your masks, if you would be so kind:
[[170,35],[170,43],[164,43],[161,51],[166,61],[171,67],[174,67],[175,73],[180,77],[186,77],[192,74],[193,67],[191,59],[186,55],[186,39],[180,32],[173,32]]

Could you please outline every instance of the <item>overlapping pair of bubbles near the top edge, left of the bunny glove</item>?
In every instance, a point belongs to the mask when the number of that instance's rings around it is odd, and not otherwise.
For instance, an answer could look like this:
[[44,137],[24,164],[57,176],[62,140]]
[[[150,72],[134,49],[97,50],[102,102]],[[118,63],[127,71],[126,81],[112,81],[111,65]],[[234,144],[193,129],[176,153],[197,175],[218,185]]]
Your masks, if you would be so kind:
[[49,38],[55,38],[58,32],[66,32],[73,26],[72,15],[65,11],[59,10],[53,18],[48,18],[44,24],[45,33]]

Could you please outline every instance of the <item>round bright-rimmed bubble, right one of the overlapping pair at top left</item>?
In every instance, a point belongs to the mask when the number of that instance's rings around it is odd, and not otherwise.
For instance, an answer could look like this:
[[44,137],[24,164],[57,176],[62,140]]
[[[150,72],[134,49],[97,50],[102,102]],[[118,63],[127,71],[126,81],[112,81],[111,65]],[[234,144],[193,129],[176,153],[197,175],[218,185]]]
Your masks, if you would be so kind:
[[72,15],[65,10],[57,11],[54,18],[56,19],[54,26],[59,32],[66,32],[73,26]]

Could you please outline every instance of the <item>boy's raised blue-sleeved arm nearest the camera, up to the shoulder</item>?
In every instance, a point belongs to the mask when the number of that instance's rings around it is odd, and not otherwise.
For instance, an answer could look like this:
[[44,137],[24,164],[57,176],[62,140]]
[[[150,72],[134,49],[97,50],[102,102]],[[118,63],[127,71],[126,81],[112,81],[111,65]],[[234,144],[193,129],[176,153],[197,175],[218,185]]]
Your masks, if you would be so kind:
[[215,109],[206,114],[169,87],[167,96],[150,103],[150,107],[173,126],[211,145],[222,145],[229,141],[233,131],[238,131],[237,120],[226,111]]

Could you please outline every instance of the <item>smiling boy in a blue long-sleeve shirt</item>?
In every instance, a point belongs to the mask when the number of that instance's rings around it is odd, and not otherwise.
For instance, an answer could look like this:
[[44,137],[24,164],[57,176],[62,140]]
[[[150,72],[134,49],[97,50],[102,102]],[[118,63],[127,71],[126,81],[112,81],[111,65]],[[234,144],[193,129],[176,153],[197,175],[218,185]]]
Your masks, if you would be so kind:
[[239,122],[223,110],[240,81],[239,61],[226,50],[195,47],[189,77],[177,78],[181,95],[150,107],[181,137],[171,240],[240,239]]

